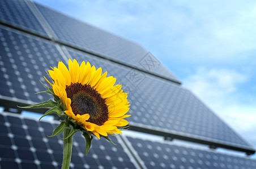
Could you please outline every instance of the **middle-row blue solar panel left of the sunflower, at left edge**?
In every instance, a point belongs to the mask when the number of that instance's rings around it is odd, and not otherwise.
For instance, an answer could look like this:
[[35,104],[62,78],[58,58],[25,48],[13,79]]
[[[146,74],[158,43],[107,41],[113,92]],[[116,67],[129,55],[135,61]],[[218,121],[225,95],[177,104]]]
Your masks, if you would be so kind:
[[[52,42],[0,26],[0,96],[41,102],[45,70],[63,60]],[[40,80],[40,81],[39,81]]]

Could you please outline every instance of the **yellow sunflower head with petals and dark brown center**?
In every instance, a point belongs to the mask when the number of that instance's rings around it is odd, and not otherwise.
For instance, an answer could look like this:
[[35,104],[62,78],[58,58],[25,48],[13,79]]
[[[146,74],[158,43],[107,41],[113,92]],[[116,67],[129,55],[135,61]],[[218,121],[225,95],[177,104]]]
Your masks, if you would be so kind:
[[[52,68],[52,67],[51,67]],[[46,81],[52,86],[54,94],[65,105],[65,114],[74,119],[98,139],[100,136],[122,134],[120,129],[128,124],[129,117],[127,93],[123,92],[116,78],[106,77],[107,72],[96,70],[83,61],[80,66],[69,59],[69,69],[61,61],[58,68],[48,70],[50,78]]]

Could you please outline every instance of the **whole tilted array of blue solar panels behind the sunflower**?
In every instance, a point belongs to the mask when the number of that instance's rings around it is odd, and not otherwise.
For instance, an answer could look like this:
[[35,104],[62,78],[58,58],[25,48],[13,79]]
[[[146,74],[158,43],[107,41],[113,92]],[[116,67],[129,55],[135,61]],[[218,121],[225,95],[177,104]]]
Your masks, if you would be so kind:
[[[67,63],[68,58],[74,58],[80,63],[83,60],[89,61],[96,68],[101,66],[104,71],[108,71],[108,75],[117,78],[117,83],[122,84],[123,90],[129,93],[131,103],[129,122],[132,129],[137,127],[143,132],[223,146],[249,154],[255,152],[247,141],[217,117],[193,93],[179,85],[180,81],[140,45],[31,1],[4,0],[0,4],[0,106],[6,106],[6,101],[8,104],[13,103],[13,108],[16,108],[16,102],[30,104],[48,100],[50,96],[47,94],[35,94],[45,90],[39,82],[40,80],[46,84],[43,78],[46,75],[45,70],[50,66],[56,66],[58,61]],[[38,123],[33,119],[19,115],[14,117],[5,113],[0,117],[1,169],[12,165],[14,168],[15,166],[44,168],[47,165],[50,168],[60,167],[61,143],[57,137],[53,140],[45,137],[45,134],[51,134],[52,127],[56,123]],[[123,140],[114,137],[114,141],[122,145],[118,147],[97,140],[90,150],[92,156],[83,157],[84,141],[83,144],[79,144],[82,143],[81,138],[80,135],[75,136],[76,152],[73,153],[75,158],[72,159],[71,165],[73,168],[96,166],[134,168],[138,167],[137,162],[139,167],[146,168],[155,168],[157,165],[167,168],[173,166],[204,168],[208,166],[207,163],[210,163],[210,167],[216,167],[214,162],[219,165],[218,167],[223,167],[221,161],[229,161],[229,158],[231,161],[237,159],[246,163],[248,168],[255,166],[255,161],[248,158],[225,156],[210,150],[197,150],[166,144],[163,141],[155,142],[131,137],[127,139],[123,137]],[[137,143],[143,144],[142,148],[138,148]],[[144,147],[147,145],[153,146],[153,149],[148,150]],[[189,153],[199,152],[204,154],[204,157],[207,154],[210,157],[216,155],[218,159],[208,160],[205,163],[203,157],[192,155],[191,161],[203,161],[203,163],[186,163],[187,161],[183,162],[182,159],[189,160],[191,154],[187,156],[184,153],[175,154],[173,151],[161,152],[156,149],[158,146],[167,146],[180,152],[184,149]],[[104,147],[114,149],[114,152],[105,151]],[[126,147],[133,150],[131,152],[133,155],[130,155]],[[3,151],[10,153],[1,153]],[[151,151],[155,151],[159,158],[142,155]],[[22,155],[19,155],[20,153]],[[116,158],[115,153],[126,155],[125,157],[117,155]],[[24,154],[28,155],[23,157]],[[177,160],[166,160],[165,156]],[[229,162],[224,164],[224,168],[241,167],[241,164]]]

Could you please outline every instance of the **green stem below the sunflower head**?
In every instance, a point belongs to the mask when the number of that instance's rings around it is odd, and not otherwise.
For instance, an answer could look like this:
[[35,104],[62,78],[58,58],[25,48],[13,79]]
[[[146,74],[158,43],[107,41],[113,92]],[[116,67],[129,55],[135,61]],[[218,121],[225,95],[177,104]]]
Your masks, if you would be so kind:
[[[66,128],[63,132],[63,138],[66,138],[70,133],[70,128]],[[69,169],[72,153],[72,137],[63,140],[63,161],[61,169]]]

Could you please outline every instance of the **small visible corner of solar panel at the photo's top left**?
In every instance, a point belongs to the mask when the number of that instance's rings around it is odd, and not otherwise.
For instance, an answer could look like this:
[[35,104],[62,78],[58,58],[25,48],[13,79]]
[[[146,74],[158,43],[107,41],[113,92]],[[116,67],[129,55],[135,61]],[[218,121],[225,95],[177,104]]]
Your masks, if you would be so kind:
[[23,0],[0,1],[0,21],[47,35],[39,20]]

